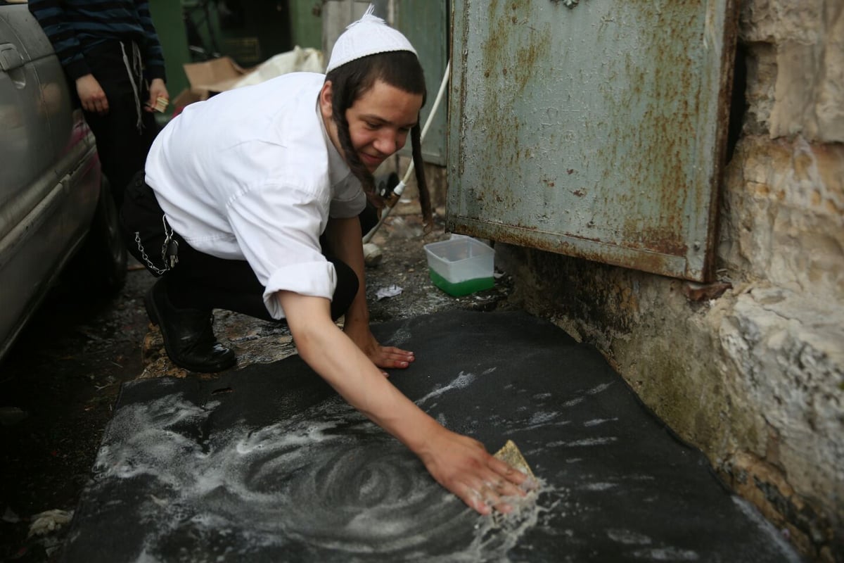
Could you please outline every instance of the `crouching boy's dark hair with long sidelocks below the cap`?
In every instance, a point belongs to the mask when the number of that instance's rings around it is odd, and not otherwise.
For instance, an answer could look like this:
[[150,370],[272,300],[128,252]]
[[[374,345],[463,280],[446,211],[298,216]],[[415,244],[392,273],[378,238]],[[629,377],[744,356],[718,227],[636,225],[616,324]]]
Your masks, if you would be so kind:
[[[375,179],[372,173],[360,161],[360,157],[352,146],[349,134],[349,122],[346,120],[348,110],[355,100],[371,89],[377,80],[410,94],[421,94],[422,105],[425,106],[425,73],[419,58],[411,51],[389,51],[377,53],[367,57],[360,57],[354,61],[334,68],[327,74],[326,80],[332,84],[332,119],[337,124],[338,140],[354,176],[364,187],[367,198],[376,201]],[[419,187],[419,205],[425,224],[433,225],[430,209],[430,194],[425,182],[425,163],[422,161],[422,127],[421,118],[410,130],[411,148],[413,150],[414,172]],[[383,204],[378,205],[383,207]]]

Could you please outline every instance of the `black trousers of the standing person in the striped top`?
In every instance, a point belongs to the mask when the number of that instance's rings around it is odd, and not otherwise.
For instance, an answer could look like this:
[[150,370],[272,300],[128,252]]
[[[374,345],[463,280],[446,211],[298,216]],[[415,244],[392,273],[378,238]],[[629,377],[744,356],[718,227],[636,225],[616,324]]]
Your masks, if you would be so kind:
[[[85,121],[94,133],[100,165],[109,180],[111,195],[118,209],[122,205],[123,189],[132,180],[135,172],[143,168],[149,146],[160,131],[154,114],[143,109],[149,101],[148,84],[143,80],[143,76],[134,78],[135,87],[138,89],[136,100],[135,89],[129,79],[130,70],[123,61],[124,50],[131,68],[131,42],[124,41],[121,48],[119,41],[108,41],[85,52],[85,62],[106,93],[109,106],[109,111],[104,116],[84,111]],[[76,92],[75,84],[73,92]],[[141,106],[141,127],[138,127],[136,101]]]

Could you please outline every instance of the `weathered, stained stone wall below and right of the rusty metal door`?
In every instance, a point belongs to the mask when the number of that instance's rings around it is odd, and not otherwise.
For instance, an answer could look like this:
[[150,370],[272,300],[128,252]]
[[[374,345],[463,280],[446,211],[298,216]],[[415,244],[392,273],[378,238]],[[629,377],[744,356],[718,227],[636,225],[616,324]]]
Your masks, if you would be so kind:
[[602,349],[804,554],[844,560],[844,0],[743,0],[739,25],[746,108],[718,246],[731,289],[701,299],[516,246],[497,259],[528,310]]

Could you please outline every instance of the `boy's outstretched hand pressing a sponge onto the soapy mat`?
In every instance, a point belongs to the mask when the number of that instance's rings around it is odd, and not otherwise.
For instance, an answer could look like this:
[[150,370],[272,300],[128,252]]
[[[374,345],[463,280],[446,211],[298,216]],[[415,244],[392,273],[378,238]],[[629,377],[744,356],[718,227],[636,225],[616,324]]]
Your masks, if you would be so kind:
[[436,482],[481,514],[511,512],[502,497],[524,496],[527,475],[493,457],[484,445],[442,428],[419,458]]

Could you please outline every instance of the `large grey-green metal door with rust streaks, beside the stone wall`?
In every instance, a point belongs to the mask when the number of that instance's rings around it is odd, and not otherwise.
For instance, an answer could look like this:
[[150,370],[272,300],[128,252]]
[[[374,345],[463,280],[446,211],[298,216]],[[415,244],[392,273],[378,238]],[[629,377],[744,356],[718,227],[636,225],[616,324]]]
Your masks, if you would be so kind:
[[711,275],[733,0],[455,0],[449,230]]

